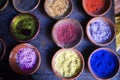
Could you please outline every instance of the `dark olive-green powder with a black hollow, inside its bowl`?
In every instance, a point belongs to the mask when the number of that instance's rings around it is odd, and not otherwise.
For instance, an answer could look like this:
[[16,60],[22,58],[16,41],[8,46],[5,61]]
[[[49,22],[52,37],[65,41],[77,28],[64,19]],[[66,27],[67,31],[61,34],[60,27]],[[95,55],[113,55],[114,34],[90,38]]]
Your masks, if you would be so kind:
[[38,30],[38,22],[30,14],[22,14],[17,16],[12,24],[13,35],[20,40],[29,40],[36,34]]

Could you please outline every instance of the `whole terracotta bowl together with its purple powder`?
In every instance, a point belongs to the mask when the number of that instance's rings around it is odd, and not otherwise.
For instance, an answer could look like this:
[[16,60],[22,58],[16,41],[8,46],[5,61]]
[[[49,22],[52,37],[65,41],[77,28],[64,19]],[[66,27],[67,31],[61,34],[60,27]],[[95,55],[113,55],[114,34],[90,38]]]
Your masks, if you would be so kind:
[[19,75],[32,75],[38,70],[40,63],[38,49],[28,43],[15,46],[9,55],[9,65]]

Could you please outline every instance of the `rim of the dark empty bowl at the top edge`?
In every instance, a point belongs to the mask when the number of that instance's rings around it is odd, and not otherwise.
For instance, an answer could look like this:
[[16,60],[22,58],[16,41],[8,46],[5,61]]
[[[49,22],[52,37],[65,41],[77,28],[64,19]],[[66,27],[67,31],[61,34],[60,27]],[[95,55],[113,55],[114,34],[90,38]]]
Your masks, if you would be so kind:
[[30,13],[32,11],[34,11],[40,4],[41,0],[37,0],[37,4],[30,10],[27,10],[27,11],[24,11],[24,10],[20,10],[19,8],[16,7],[15,3],[14,3],[15,0],[12,0],[12,3],[13,3],[13,7],[15,8],[16,11],[20,12],[20,13]]

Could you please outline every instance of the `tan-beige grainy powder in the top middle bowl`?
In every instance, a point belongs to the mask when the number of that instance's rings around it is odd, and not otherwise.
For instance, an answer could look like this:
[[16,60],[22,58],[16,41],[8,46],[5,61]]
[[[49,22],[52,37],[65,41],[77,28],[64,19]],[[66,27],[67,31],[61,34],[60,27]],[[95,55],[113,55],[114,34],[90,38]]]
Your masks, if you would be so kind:
[[51,0],[47,5],[48,12],[52,17],[59,17],[69,8],[69,0]]

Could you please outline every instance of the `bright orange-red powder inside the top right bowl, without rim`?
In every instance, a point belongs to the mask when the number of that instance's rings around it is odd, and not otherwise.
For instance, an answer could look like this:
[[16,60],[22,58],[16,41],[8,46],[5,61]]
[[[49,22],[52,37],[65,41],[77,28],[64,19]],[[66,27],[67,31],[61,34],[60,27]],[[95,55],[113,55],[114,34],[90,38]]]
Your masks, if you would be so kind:
[[91,13],[102,13],[106,6],[106,0],[86,0],[86,8]]

